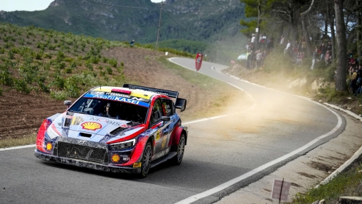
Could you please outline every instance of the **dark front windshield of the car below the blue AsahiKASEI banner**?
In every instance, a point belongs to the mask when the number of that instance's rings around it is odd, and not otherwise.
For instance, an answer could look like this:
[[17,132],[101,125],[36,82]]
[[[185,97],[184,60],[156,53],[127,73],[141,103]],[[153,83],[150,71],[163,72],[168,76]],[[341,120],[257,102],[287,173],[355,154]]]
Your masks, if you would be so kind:
[[133,103],[83,97],[71,106],[69,112],[145,123],[147,110],[147,107]]

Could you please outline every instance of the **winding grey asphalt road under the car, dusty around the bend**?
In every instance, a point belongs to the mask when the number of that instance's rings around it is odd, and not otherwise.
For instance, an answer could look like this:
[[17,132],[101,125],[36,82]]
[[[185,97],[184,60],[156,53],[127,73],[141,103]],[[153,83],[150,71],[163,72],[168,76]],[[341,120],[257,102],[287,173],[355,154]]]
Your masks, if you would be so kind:
[[[195,67],[194,60],[171,61]],[[335,138],[346,125],[322,105],[233,79],[222,68],[203,62],[200,73],[239,88],[252,105],[184,123],[189,140],[180,166],[162,164],[137,179],[43,162],[34,147],[0,151],[0,203],[213,203]]]

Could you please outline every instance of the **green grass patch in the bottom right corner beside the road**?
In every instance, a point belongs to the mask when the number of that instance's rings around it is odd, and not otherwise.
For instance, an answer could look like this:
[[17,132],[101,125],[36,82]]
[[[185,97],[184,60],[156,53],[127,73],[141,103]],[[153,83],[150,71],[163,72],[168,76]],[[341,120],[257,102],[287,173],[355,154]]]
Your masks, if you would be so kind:
[[313,203],[325,199],[326,203],[334,204],[340,196],[362,196],[361,169],[361,163],[354,164],[350,170],[340,173],[329,183],[312,188],[304,194],[296,194],[291,203]]

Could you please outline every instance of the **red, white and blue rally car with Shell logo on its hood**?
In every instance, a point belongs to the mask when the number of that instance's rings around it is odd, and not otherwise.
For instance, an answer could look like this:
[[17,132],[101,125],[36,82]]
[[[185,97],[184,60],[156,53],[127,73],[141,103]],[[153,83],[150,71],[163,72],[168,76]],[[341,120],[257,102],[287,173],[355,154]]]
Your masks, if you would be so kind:
[[35,156],[114,173],[137,173],[171,160],[182,162],[187,127],[176,109],[186,99],[178,92],[124,84],[88,90],[67,111],[46,118],[36,139]]

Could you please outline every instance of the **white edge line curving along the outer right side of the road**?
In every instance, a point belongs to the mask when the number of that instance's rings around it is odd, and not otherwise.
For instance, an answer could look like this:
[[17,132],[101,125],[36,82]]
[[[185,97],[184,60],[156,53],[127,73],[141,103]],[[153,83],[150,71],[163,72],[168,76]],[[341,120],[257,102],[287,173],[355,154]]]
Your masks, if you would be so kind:
[[[171,59],[172,59],[172,58],[171,58]],[[171,61],[171,59],[169,59],[169,60]],[[172,61],[171,61],[171,62],[172,62]],[[175,62],[173,62],[173,63],[175,63]],[[178,63],[175,63],[175,64],[178,64]],[[180,65],[180,64],[178,64],[178,65]],[[180,66],[182,66],[182,65],[180,65]],[[183,67],[185,67],[185,66],[183,66]],[[187,68],[187,67],[186,67],[186,68]],[[212,69],[213,69],[213,68],[212,68]],[[215,71],[215,69],[213,69],[213,71]],[[214,78],[215,78],[215,77],[214,77]],[[215,79],[216,79],[216,78],[215,78]],[[219,80],[220,80],[220,79],[219,79]],[[222,80],[220,80],[220,81],[222,81]],[[258,84],[254,84],[254,83],[251,83],[250,81],[245,81],[245,80],[243,80],[243,79],[240,79],[240,81],[244,81],[244,82],[246,82],[246,83],[253,84],[253,85],[255,85],[255,86],[260,86],[260,85],[258,85]],[[226,82],[226,81],[224,81],[224,82]],[[228,83],[228,82],[226,82],[226,83]],[[228,83],[228,84],[230,84],[230,83]],[[234,84],[230,84],[230,85],[231,85],[231,86],[234,86],[234,87],[236,87],[236,88],[239,88],[239,87],[235,86]],[[260,86],[260,87],[266,88],[266,87],[264,87],[264,86]],[[241,88],[239,88],[239,89],[241,89]],[[241,89],[241,90],[242,90],[242,89]],[[277,91],[278,91],[278,90],[277,90]],[[279,92],[281,92],[281,91],[279,91]],[[249,94],[248,92],[245,92],[245,93]],[[285,93],[285,92],[283,92],[283,93]],[[288,93],[287,93],[287,94],[288,94]],[[307,101],[311,101],[311,100],[309,100],[309,99],[307,99],[307,98],[305,98],[305,97],[300,97],[300,96],[297,96],[297,95],[294,95],[294,94],[291,94],[291,95],[293,95],[293,96],[295,96],[295,97],[299,97],[299,98],[301,98],[301,99],[305,99],[305,100],[307,100]],[[250,97],[251,97],[251,95],[250,95]],[[252,98],[252,99],[254,99],[254,98]],[[317,105],[321,105],[322,107],[325,107],[325,108],[326,108],[327,110],[329,110],[330,112],[333,112],[333,114],[335,114],[335,116],[337,116],[338,122],[337,122],[337,125],[335,126],[335,128],[333,128],[333,129],[332,129],[331,131],[329,131],[328,133],[326,133],[326,134],[324,134],[324,135],[322,135],[322,136],[319,136],[318,138],[315,138],[314,140],[312,140],[312,141],[309,142],[308,144],[300,147],[299,149],[296,149],[295,151],[292,151],[291,153],[288,153],[287,155],[284,155],[284,156],[282,156],[282,157],[279,157],[278,159],[273,160],[272,162],[268,162],[267,164],[264,164],[264,165],[262,165],[262,166],[259,166],[258,168],[254,168],[253,170],[250,170],[248,173],[245,173],[245,174],[243,174],[243,175],[241,175],[241,176],[239,176],[239,177],[237,177],[237,178],[235,178],[235,179],[232,179],[232,180],[230,180],[230,181],[227,181],[226,183],[222,183],[221,185],[216,186],[215,188],[211,188],[210,190],[206,190],[205,192],[202,192],[202,193],[200,193],[200,194],[195,194],[195,195],[193,195],[193,196],[190,196],[189,198],[184,199],[184,200],[182,200],[182,201],[179,201],[178,203],[175,203],[175,204],[189,204],[189,203],[193,203],[193,202],[195,202],[195,201],[197,201],[197,200],[200,200],[200,199],[202,199],[202,198],[204,198],[204,197],[206,197],[206,196],[210,196],[210,195],[212,195],[212,194],[215,194],[215,193],[217,193],[217,192],[220,192],[221,190],[224,190],[224,189],[226,189],[226,188],[234,185],[235,183],[238,183],[239,181],[242,181],[243,179],[247,179],[248,177],[250,177],[250,176],[252,176],[252,175],[254,175],[254,174],[256,174],[256,173],[259,173],[259,172],[261,172],[262,170],[265,170],[266,168],[269,168],[270,166],[273,166],[274,164],[278,164],[279,162],[282,162],[282,161],[284,161],[284,160],[287,160],[289,157],[292,157],[293,155],[296,155],[296,154],[298,154],[298,153],[300,153],[300,152],[308,149],[310,146],[312,146],[313,144],[315,144],[315,143],[318,142],[319,140],[322,140],[323,138],[326,138],[326,137],[332,135],[333,133],[335,133],[335,132],[339,129],[339,127],[341,127],[341,125],[342,125],[341,116],[339,116],[339,114],[337,114],[337,113],[334,112],[333,110],[330,110],[330,108],[328,108],[328,107],[326,107],[326,106],[324,106],[324,105],[322,105],[322,104],[320,104],[320,103],[317,103],[317,102],[315,102],[315,101],[311,101],[311,102],[313,102],[313,103],[315,103],[315,104],[317,104]],[[253,106],[253,107],[254,107],[254,106]]]

